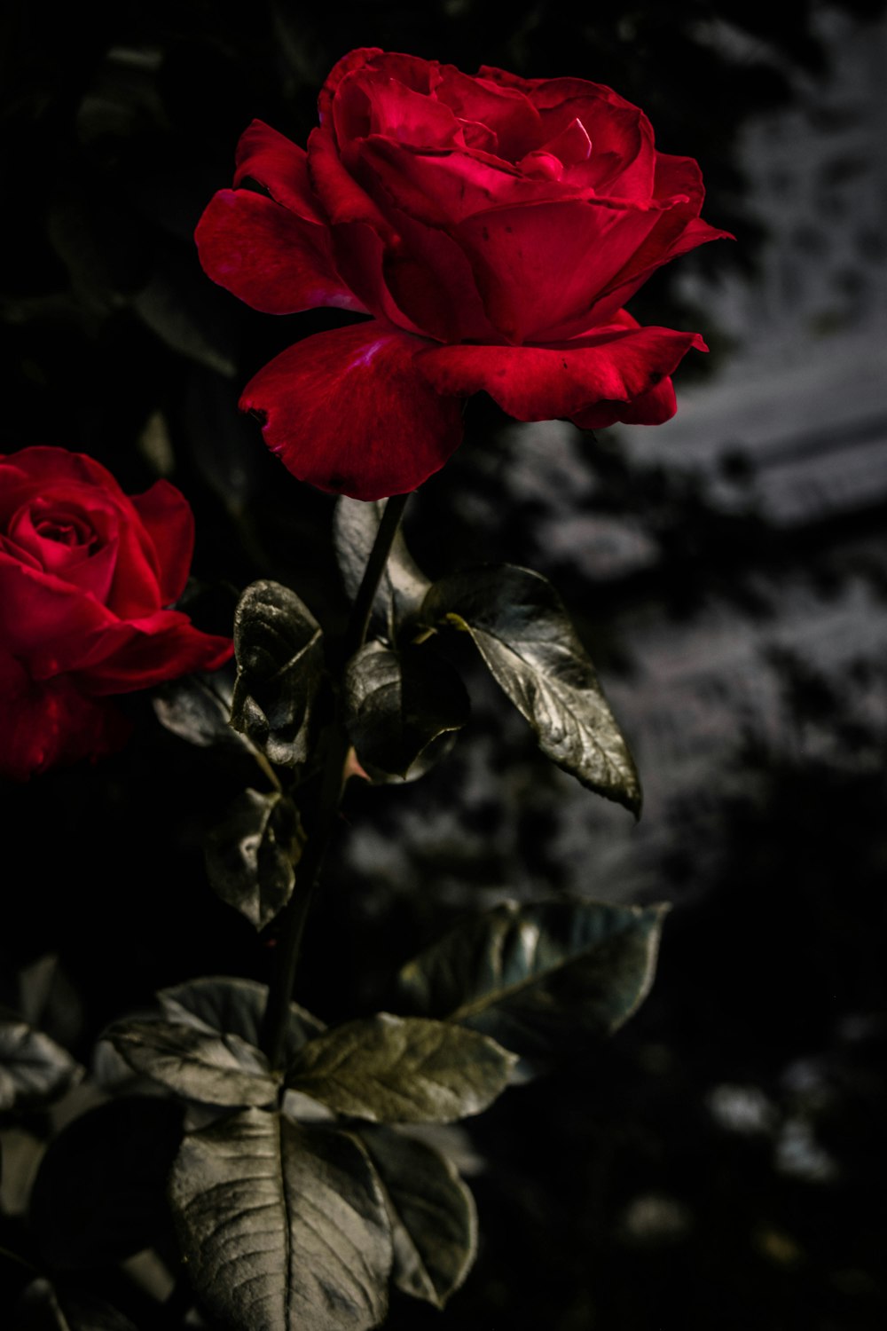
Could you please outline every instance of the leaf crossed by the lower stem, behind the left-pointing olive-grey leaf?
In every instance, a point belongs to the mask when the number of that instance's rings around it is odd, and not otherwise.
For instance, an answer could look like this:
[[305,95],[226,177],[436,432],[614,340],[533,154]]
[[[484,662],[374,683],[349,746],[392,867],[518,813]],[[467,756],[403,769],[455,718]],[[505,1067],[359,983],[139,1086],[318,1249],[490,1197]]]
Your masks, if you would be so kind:
[[[168,1021],[193,1026],[205,1034],[239,1036],[247,1045],[259,1047],[267,985],[231,976],[205,976],[161,989],[157,998]],[[285,1046],[287,1058],[295,1057],[306,1040],[319,1036],[323,1029],[318,1017],[291,1002]]]

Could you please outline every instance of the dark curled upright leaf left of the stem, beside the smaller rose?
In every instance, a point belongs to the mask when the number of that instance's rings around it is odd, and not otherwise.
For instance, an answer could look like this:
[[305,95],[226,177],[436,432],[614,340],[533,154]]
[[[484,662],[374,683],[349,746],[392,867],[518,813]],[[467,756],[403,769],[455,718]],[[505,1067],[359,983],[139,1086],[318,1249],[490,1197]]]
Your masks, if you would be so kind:
[[255,582],[237,604],[234,651],[231,725],[271,763],[303,763],[309,756],[311,708],[323,676],[317,619],[289,587]]

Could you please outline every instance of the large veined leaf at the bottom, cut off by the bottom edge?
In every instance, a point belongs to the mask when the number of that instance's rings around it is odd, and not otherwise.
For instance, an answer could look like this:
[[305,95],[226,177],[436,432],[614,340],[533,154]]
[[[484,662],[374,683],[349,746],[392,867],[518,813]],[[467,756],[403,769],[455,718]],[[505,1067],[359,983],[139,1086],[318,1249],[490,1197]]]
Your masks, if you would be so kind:
[[188,1270],[238,1331],[366,1331],[386,1314],[391,1231],[354,1138],[247,1110],[188,1137],[170,1198]]

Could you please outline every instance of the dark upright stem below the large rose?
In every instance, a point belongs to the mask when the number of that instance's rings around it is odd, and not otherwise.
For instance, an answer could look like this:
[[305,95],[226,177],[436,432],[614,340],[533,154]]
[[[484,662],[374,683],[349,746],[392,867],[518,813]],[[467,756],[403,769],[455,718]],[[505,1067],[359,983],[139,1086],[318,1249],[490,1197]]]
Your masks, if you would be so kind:
[[[370,615],[372,614],[372,602],[375,600],[376,590],[388,562],[391,546],[398,534],[408,498],[410,495],[392,495],[384,506],[379,530],[376,531],[372,550],[363,570],[360,587],[354,599],[344,631],[343,667],[363,647],[366,640]],[[305,921],[311,908],[314,889],[327,848],[335,832],[348,748],[350,740],[342,723],[340,703],[336,703],[320,775],[317,817],[305,844],[302,858],[298,862],[295,890],[281,916],[274,977],[262,1022],[262,1047],[269,1057],[271,1067],[281,1067],[283,1062],[290,997],[302,950]]]

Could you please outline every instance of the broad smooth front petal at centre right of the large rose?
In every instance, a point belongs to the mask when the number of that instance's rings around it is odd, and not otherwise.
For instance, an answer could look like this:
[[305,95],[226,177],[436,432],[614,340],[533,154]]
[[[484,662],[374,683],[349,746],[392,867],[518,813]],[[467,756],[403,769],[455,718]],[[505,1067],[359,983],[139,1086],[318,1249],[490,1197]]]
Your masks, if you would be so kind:
[[654,209],[570,200],[479,213],[453,236],[492,323],[512,342],[541,342],[592,307],[657,218]]

